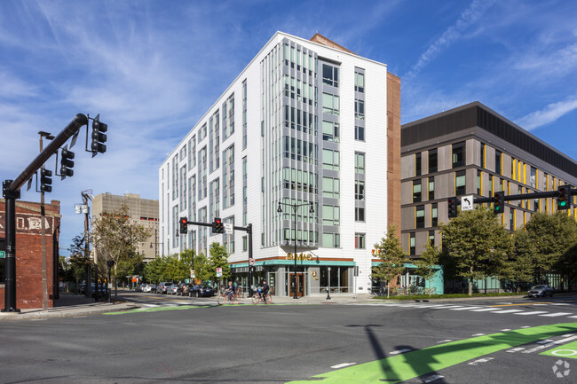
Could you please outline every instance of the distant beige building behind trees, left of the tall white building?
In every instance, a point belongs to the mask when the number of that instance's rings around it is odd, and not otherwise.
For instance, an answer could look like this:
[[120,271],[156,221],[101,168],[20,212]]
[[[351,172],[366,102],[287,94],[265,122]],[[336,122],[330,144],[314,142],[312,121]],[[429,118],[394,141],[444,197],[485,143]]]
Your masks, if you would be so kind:
[[158,255],[164,255],[162,242],[158,240],[158,200],[141,199],[136,193],[125,193],[124,196],[100,193],[92,199],[92,215],[112,212],[123,205],[129,208],[128,212],[133,221],[151,231],[150,237],[137,247],[143,262],[148,263]]

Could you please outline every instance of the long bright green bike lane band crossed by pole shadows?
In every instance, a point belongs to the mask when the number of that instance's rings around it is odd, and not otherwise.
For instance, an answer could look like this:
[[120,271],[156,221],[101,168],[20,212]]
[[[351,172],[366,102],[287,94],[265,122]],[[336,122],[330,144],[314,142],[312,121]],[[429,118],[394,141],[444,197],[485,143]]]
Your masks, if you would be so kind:
[[351,382],[376,384],[385,381],[393,384],[415,379],[428,373],[439,374],[442,369],[478,357],[576,331],[577,323],[563,323],[487,334],[417,349],[402,355],[321,373],[309,379],[289,381],[287,384],[305,384],[312,381],[322,384],[347,384]]

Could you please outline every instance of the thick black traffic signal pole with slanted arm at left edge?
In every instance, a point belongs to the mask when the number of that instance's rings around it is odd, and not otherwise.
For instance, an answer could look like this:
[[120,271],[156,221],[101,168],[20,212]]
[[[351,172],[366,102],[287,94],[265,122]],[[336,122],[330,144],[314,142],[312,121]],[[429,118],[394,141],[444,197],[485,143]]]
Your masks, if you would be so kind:
[[2,184],[2,192],[6,201],[6,258],[5,258],[5,288],[4,288],[4,309],[2,312],[20,312],[16,308],[16,200],[20,199],[20,188],[28,179],[36,174],[45,161],[51,155],[57,153],[60,145],[66,143],[78,129],[88,124],[88,118],[83,114],[76,114],[73,121],[70,121],[65,129],[58,136],[54,137],[49,145],[36,156],[36,159],[28,164],[28,167],[14,180],[5,180]]

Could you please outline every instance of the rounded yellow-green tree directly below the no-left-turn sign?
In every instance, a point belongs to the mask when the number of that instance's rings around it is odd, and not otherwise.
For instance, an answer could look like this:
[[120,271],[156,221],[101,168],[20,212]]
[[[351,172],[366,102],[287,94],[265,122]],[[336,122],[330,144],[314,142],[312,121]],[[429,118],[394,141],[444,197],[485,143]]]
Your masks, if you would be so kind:
[[448,224],[440,226],[443,236],[443,259],[455,276],[469,281],[500,275],[512,252],[512,239],[497,216],[487,208],[461,212]]

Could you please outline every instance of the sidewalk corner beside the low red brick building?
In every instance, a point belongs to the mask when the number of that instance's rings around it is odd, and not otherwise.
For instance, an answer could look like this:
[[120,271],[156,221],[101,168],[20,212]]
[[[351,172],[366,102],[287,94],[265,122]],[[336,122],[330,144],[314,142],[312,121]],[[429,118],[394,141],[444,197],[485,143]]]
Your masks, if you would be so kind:
[[54,301],[54,308],[42,310],[20,310],[17,312],[0,312],[0,321],[34,320],[52,317],[80,317],[96,313],[117,312],[121,310],[135,310],[139,308],[134,302],[94,302],[93,298],[86,298],[83,294],[62,294]]

